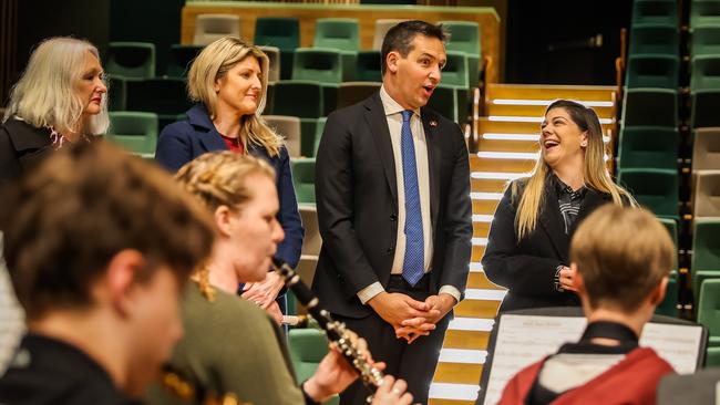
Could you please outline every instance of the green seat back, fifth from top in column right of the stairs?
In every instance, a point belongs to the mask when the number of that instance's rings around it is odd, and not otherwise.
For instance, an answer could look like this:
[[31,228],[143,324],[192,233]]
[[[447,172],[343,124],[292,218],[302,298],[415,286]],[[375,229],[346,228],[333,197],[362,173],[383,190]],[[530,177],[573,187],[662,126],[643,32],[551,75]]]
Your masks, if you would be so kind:
[[620,132],[618,167],[678,167],[678,129],[669,126],[626,126]]

